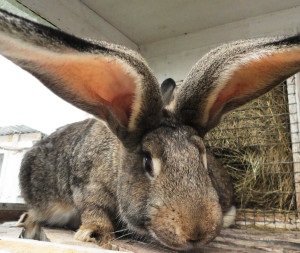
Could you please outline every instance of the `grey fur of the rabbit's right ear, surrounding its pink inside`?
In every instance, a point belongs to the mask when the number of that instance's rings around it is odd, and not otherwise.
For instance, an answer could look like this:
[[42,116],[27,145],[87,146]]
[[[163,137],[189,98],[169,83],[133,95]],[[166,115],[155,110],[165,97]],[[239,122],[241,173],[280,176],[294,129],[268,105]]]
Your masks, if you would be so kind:
[[254,55],[261,57],[263,54],[271,55],[272,53],[295,49],[295,47],[299,53],[299,44],[299,35],[281,36],[235,41],[211,50],[193,66],[178,90],[175,113],[182,122],[198,129],[199,134],[203,137],[207,131],[220,122],[223,114],[261,96],[289,76],[297,73],[300,60],[298,58],[298,61],[292,62],[290,66],[282,67],[280,72],[274,73],[268,82],[262,83],[260,89],[253,90],[242,98],[237,97],[228,101],[219,114],[214,115],[214,118],[207,123],[202,122],[207,99],[219,85],[220,79],[224,78],[225,71],[230,70],[235,65],[242,65],[245,58]]

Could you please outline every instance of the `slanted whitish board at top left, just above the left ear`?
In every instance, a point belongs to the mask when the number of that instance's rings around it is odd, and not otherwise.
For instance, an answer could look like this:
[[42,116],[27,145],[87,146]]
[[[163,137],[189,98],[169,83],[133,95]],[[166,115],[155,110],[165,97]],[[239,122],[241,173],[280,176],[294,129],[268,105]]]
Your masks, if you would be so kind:
[[79,0],[19,0],[19,2],[58,28],[78,37],[105,40],[138,49],[132,40]]

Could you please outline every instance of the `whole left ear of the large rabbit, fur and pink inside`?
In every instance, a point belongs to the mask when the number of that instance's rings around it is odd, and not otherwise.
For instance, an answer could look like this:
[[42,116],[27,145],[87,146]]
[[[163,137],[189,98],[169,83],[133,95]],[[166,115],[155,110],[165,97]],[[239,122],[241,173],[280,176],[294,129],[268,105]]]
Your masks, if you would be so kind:
[[1,11],[0,53],[58,96],[106,121],[119,137],[136,136],[159,122],[157,80],[129,49],[78,39]]

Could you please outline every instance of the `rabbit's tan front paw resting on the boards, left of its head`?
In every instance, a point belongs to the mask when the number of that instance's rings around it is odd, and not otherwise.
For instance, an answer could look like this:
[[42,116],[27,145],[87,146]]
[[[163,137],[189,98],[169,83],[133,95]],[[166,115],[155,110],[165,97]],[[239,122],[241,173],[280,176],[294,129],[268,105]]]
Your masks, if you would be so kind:
[[97,226],[81,226],[74,237],[79,241],[97,243],[105,249],[111,249],[110,242],[115,239],[112,232],[104,232]]

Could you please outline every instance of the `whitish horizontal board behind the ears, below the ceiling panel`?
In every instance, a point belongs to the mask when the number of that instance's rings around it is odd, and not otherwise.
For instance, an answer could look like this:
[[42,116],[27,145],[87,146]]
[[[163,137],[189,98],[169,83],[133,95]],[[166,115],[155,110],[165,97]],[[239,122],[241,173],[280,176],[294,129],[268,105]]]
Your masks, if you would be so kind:
[[201,30],[175,38],[141,45],[141,53],[159,81],[182,80],[191,67],[212,48],[238,39],[300,32],[300,6],[259,17]]

